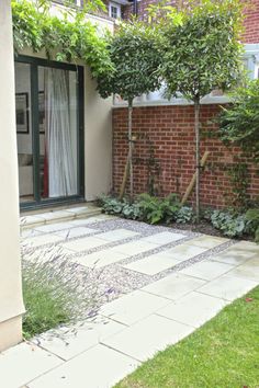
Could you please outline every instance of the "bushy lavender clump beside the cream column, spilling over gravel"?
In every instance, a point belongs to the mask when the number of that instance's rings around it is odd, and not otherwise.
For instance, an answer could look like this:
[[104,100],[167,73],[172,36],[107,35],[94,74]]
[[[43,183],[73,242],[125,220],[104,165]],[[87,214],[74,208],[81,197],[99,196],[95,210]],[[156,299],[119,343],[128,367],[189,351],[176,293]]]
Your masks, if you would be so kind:
[[23,335],[30,339],[59,324],[74,323],[97,310],[97,290],[60,250],[23,249]]

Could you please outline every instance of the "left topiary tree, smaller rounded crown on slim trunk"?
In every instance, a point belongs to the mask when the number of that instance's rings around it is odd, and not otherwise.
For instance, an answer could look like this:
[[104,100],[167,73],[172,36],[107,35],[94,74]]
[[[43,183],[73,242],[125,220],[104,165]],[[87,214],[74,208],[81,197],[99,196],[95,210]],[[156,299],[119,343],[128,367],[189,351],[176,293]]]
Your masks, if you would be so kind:
[[115,35],[110,37],[109,44],[114,71],[108,72],[105,77],[103,75],[98,77],[98,90],[101,96],[108,98],[114,93],[127,101],[131,199],[133,198],[133,100],[160,87],[157,71],[161,61],[158,38],[156,30],[143,22],[122,23]]

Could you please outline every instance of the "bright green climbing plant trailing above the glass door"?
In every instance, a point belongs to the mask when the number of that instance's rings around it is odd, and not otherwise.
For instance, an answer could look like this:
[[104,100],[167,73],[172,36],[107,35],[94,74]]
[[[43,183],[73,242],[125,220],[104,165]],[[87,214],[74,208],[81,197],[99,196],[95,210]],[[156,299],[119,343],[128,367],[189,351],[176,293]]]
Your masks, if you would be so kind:
[[86,20],[87,9],[76,12],[67,8],[55,16],[47,0],[12,0],[11,5],[15,53],[30,47],[35,53],[45,52],[49,59],[82,60],[93,77],[113,71],[104,32]]

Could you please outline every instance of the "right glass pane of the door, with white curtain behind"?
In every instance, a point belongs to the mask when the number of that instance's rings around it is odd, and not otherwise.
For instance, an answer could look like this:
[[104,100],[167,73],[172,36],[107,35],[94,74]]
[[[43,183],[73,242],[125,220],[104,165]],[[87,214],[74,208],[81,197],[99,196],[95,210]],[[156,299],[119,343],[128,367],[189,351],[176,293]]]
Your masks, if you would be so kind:
[[38,68],[41,196],[78,194],[77,73]]

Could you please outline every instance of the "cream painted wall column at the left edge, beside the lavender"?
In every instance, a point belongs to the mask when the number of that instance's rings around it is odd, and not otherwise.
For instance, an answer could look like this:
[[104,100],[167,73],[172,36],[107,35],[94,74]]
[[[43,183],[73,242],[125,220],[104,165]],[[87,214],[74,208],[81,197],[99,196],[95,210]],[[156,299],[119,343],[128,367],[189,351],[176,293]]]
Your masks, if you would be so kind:
[[0,0],[0,351],[22,340],[14,62],[10,0]]

